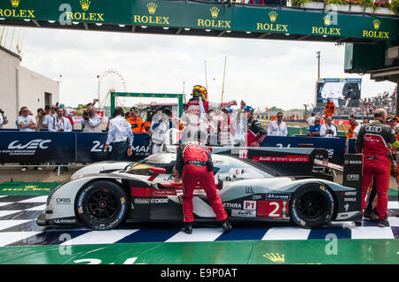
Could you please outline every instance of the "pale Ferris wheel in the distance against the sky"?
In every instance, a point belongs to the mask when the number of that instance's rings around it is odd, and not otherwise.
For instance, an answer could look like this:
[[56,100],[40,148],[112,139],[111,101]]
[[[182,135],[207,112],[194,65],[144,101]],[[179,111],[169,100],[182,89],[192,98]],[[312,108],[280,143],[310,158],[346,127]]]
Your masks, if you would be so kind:
[[[127,92],[127,83],[123,79],[121,72],[117,70],[107,70],[98,76],[98,97],[99,108],[109,109],[111,104],[111,92]],[[123,106],[126,98],[116,97],[117,106]]]

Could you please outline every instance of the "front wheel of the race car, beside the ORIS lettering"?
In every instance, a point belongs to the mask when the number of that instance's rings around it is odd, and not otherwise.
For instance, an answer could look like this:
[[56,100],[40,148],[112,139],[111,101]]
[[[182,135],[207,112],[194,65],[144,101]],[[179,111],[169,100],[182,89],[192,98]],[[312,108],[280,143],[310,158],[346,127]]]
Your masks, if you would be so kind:
[[109,230],[123,222],[129,210],[126,192],[112,181],[91,182],[76,197],[76,215],[94,230]]

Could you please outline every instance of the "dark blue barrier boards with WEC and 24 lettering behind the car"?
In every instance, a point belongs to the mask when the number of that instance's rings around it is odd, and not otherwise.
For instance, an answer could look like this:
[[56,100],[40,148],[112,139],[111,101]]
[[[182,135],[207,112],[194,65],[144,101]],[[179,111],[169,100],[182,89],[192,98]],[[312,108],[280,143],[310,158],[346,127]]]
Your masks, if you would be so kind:
[[[21,133],[0,132],[0,164],[71,164],[94,163],[111,159],[104,151],[106,133]],[[133,154],[129,161],[137,161],[150,155],[149,135],[135,133]],[[262,147],[296,148],[311,146],[327,149],[333,164],[343,164],[345,153],[355,152],[354,140],[343,138],[319,138],[305,136],[267,136]],[[112,149],[112,148],[111,148]]]

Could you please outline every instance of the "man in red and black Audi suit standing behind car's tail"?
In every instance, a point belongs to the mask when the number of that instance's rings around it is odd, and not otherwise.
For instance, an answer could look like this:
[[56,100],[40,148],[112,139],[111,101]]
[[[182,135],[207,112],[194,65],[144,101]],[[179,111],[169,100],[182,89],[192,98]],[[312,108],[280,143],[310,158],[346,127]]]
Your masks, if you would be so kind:
[[360,128],[356,140],[356,151],[364,154],[363,183],[362,183],[362,211],[365,209],[365,196],[372,177],[376,182],[379,198],[377,211],[380,227],[389,226],[387,221],[387,189],[389,186],[389,170],[387,160],[387,143],[394,149],[399,147],[390,126],[384,125],[387,111],[377,109],[374,113],[376,120]]

